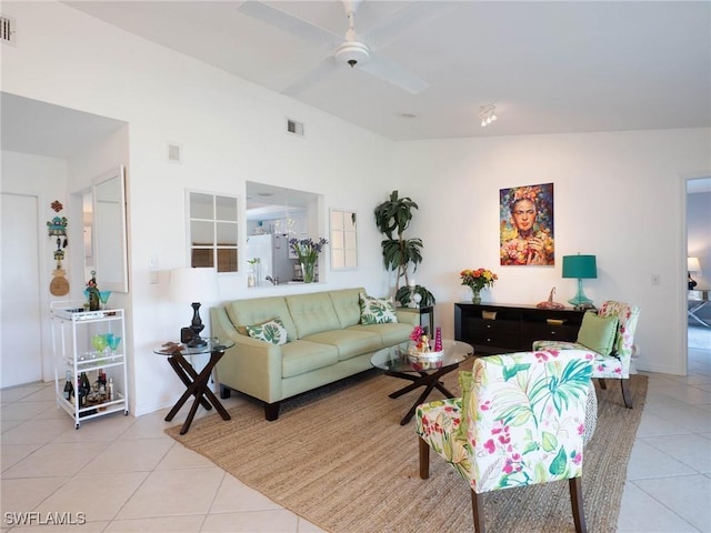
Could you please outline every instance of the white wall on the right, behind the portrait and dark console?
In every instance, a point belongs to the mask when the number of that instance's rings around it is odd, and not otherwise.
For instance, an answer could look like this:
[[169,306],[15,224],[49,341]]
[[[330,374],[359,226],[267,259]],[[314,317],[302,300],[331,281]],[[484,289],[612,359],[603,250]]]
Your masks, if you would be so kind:
[[[470,298],[459,284],[462,269],[498,273],[484,301],[534,305],[555,286],[555,300],[567,303],[577,281],[561,278],[561,258],[590,253],[598,279],[585,280],[587,295],[597,304],[621,300],[641,308],[638,369],[684,373],[683,175],[708,175],[710,145],[709,129],[400,144],[398,173],[410,179],[403,192],[421,211],[412,227],[424,238],[418,282],[438,298],[438,323],[451,332],[453,302]],[[500,266],[499,189],[549,182],[555,266]]]

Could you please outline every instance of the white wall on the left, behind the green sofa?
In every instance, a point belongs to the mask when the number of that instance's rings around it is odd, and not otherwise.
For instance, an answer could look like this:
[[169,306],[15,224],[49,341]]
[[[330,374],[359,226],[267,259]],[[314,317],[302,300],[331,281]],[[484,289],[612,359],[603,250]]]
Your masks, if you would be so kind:
[[[248,180],[323,194],[324,217],[340,207],[363,221],[361,269],[327,271],[328,286],[387,290],[380,235],[367,221],[390,192],[390,141],[61,3],[3,2],[3,14],[21,28],[17,47],[2,47],[3,91],[129,123],[132,412],[169,405],[182,390],[152,350],[174,340],[190,319],[190,309],[167,295],[169,270],[187,264],[186,189],[238,195],[242,209]],[[303,139],[284,132],[287,117],[304,123]],[[181,164],[168,162],[169,142],[182,145]],[[149,282],[153,258],[159,284]],[[247,291],[243,272],[220,283],[224,300],[261,295]]]

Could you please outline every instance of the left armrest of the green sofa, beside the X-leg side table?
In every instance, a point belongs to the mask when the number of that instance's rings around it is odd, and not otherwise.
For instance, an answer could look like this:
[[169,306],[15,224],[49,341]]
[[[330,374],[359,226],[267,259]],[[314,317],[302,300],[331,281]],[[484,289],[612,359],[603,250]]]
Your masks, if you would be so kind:
[[242,335],[224,308],[212,308],[210,319],[213,336],[234,342],[217,364],[217,382],[268,403],[281,400],[281,346]]

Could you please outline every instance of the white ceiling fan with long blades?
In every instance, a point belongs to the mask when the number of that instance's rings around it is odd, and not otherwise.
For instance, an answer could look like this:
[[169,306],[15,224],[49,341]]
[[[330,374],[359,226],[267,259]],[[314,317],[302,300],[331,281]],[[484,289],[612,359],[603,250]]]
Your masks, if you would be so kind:
[[[422,92],[429,87],[424,80],[373,51],[364,40],[360,39],[356,33],[356,12],[361,1],[362,0],[342,0],[348,18],[346,37],[338,36],[291,13],[257,0],[243,2],[239,11],[304,40],[324,44],[330,49],[331,53],[324,57],[313,69],[287,87],[282,91],[284,94],[298,95],[343,67],[358,68],[411,94]],[[385,40],[392,42],[401,33],[412,29],[413,26],[423,23],[430,17],[444,12],[445,10],[441,8],[433,9],[432,6],[437,3],[438,2],[412,2],[409,7],[398,12],[395,17],[380,24],[378,28],[373,28],[365,37],[380,42],[382,48]]]

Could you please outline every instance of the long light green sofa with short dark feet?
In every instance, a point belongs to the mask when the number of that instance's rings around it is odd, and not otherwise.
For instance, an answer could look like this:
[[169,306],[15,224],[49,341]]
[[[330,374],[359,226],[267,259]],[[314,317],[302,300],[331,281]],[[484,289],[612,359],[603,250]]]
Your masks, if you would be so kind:
[[[371,369],[371,355],[408,341],[419,313],[398,309],[394,323],[361,324],[362,288],[236,300],[210,310],[212,335],[234,341],[216,368],[220,396],[240,391],[264,402],[267,420],[282,400]],[[247,326],[279,318],[289,342],[272,344]]]

